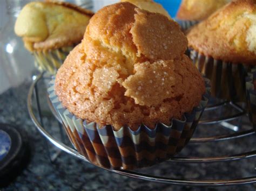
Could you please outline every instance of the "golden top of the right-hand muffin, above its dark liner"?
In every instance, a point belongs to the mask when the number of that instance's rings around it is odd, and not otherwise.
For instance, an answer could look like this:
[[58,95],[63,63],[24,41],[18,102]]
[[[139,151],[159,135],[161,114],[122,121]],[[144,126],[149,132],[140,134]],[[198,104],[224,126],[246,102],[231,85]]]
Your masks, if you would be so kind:
[[188,46],[216,60],[256,65],[256,1],[238,0],[194,26]]

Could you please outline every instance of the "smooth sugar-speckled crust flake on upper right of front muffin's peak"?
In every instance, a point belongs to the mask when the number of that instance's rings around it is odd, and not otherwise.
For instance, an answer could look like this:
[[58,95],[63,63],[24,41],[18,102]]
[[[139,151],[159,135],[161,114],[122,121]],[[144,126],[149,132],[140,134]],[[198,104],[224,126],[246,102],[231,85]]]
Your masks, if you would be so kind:
[[144,10],[135,10],[137,14],[131,33],[138,53],[152,60],[180,58],[180,53],[186,51],[187,39],[180,33],[178,23]]

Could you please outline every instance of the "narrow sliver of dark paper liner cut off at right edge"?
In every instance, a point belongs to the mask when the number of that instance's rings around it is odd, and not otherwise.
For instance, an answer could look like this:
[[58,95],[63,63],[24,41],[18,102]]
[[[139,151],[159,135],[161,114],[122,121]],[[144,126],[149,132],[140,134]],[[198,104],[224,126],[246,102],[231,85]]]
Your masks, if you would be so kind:
[[254,130],[256,132],[256,88],[254,87],[253,82],[256,83],[256,68],[252,69],[252,72],[248,73],[248,76],[246,77],[246,96],[248,112]]

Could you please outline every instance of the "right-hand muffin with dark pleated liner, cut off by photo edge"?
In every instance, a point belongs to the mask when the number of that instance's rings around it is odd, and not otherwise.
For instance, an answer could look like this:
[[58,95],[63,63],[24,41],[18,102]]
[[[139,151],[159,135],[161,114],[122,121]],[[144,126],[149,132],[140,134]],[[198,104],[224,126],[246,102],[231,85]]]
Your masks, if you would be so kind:
[[191,59],[212,82],[212,95],[245,101],[245,75],[256,65],[256,1],[231,2],[187,34]]

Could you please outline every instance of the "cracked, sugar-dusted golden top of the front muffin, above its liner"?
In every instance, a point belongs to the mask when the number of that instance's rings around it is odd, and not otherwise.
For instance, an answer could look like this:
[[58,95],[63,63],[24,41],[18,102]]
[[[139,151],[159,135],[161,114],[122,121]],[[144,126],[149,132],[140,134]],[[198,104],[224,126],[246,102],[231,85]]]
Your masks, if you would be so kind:
[[186,47],[179,25],[167,17],[127,2],[106,6],[58,70],[56,94],[70,112],[100,127],[170,125],[205,93]]

